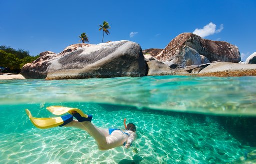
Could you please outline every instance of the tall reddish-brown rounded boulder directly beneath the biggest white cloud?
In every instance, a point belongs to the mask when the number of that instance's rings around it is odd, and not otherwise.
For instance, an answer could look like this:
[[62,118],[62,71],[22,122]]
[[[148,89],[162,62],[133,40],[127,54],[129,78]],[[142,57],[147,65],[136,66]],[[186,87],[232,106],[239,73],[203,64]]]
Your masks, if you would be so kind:
[[193,33],[182,33],[175,37],[156,58],[162,62],[175,60],[176,64],[190,66],[195,63],[185,63],[184,60],[188,53],[196,57],[196,52],[205,56],[210,62],[220,60],[238,63],[241,60],[237,46],[224,41],[203,39]]

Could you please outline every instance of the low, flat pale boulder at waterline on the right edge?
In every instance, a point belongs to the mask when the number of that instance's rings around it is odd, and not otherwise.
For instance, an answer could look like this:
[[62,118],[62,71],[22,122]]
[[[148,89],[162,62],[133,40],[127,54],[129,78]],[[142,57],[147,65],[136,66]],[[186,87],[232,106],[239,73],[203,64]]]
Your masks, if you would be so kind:
[[238,64],[231,62],[215,62],[202,69],[200,76],[255,76],[256,64]]

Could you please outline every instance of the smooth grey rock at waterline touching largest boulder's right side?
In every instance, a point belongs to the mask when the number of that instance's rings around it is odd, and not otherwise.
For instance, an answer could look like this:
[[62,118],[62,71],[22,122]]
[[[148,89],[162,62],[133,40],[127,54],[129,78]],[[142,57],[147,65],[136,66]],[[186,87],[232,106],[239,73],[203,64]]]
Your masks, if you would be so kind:
[[148,65],[148,76],[153,75],[175,75],[176,73],[171,70],[168,65],[165,65],[159,61],[149,61],[146,63]]

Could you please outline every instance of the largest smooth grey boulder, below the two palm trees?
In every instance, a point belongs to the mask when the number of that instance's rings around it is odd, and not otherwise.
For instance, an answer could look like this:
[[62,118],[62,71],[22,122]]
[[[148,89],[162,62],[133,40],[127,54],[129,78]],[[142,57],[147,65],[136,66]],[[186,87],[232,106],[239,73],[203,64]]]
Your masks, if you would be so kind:
[[[36,67],[34,64],[38,63],[33,63]],[[49,60],[44,60],[43,65],[45,66],[43,77],[46,75],[46,79],[144,76],[146,72],[140,45],[127,40],[97,45],[71,45]],[[24,69],[31,71],[27,66],[24,66]],[[25,77],[29,78],[29,72],[26,74],[28,75]]]

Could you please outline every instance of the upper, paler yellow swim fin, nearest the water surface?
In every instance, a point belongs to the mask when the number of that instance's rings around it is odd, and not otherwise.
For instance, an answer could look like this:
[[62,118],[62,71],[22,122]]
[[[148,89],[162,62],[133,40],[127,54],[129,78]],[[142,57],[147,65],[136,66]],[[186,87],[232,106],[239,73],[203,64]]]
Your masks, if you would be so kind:
[[46,107],[46,109],[49,110],[54,115],[62,115],[65,113],[69,113],[69,114],[73,115],[72,111],[76,111],[77,113],[79,113],[81,115],[81,117],[88,118],[88,115],[84,114],[82,112],[82,110],[80,110],[78,108],[70,108],[70,107],[63,107],[63,106],[50,106],[50,107]]

